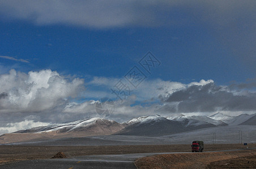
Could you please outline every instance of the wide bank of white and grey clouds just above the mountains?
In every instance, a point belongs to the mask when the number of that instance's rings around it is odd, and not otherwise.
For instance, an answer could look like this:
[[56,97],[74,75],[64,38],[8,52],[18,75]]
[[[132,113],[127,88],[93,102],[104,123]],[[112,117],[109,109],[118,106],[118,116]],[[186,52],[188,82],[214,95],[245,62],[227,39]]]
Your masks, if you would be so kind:
[[110,88],[117,78],[83,79],[52,70],[0,75],[0,133],[24,128],[100,117],[95,106],[101,96],[114,100],[110,119],[127,121],[141,115],[172,116],[180,113],[255,113],[256,83],[218,86],[201,80],[188,84],[146,79],[123,102]]

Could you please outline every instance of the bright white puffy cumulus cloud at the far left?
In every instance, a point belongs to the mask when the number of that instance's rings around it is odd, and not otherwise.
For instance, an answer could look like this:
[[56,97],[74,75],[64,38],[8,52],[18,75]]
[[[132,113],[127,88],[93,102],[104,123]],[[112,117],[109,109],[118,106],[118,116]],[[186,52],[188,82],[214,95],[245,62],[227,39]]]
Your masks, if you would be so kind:
[[68,80],[52,70],[29,72],[10,70],[0,75],[0,113],[41,112],[66,103],[83,90],[82,79]]

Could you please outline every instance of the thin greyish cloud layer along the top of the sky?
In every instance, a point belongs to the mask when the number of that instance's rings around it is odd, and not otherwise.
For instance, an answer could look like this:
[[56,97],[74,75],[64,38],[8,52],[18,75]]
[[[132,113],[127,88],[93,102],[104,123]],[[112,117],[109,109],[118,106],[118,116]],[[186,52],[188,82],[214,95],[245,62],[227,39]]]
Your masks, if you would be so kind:
[[[254,1],[14,1],[3,0],[0,11],[5,17],[30,20],[40,25],[74,24],[110,28],[130,25],[184,25],[200,19],[218,25],[232,24],[237,11],[254,11]],[[181,13],[177,14],[175,9]],[[182,11],[186,9],[186,11]],[[247,9],[247,10],[246,10]],[[186,12],[189,15],[183,15]],[[176,14],[176,15],[174,15]],[[169,15],[164,19],[163,15]],[[182,20],[178,16],[181,15]],[[240,16],[239,16],[240,15]]]

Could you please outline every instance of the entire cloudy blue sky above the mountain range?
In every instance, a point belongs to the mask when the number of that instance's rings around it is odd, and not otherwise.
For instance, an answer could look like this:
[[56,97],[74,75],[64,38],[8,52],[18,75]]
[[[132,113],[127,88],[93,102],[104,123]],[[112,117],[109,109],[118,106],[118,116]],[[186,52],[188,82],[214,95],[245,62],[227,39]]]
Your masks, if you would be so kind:
[[[2,1],[2,127],[92,117],[90,101],[101,97],[117,101],[112,118],[118,121],[151,114],[253,113],[255,8],[255,1]],[[161,62],[150,74],[139,65],[148,51]],[[118,103],[110,88],[134,66],[147,78]],[[200,105],[203,97],[212,104]]]

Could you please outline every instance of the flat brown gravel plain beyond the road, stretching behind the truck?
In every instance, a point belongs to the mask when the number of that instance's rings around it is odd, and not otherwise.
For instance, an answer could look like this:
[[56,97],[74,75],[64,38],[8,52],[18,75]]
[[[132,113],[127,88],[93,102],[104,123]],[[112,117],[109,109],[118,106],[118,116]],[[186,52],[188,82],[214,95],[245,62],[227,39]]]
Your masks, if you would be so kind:
[[[256,147],[255,144],[249,144]],[[244,148],[242,144],[205,144],[205,151]],[[117,146],[29,146],[0,145],[0,165],[29,159],[50,159],[58,152],[67,157],[96,154],[191,152],[190,144],[172,145],[117,145]]]

